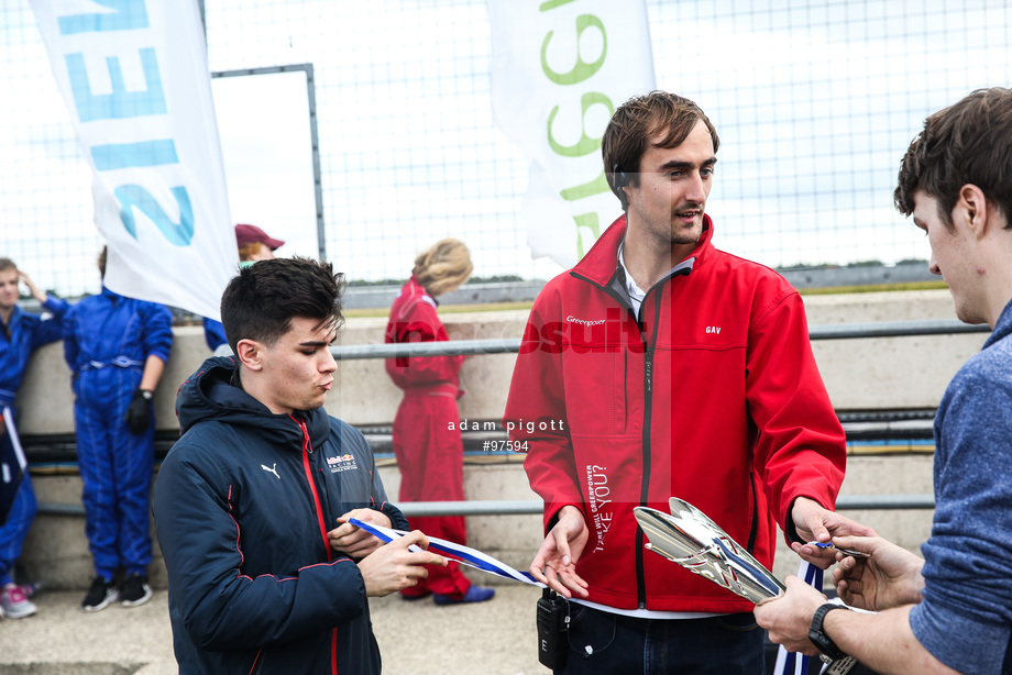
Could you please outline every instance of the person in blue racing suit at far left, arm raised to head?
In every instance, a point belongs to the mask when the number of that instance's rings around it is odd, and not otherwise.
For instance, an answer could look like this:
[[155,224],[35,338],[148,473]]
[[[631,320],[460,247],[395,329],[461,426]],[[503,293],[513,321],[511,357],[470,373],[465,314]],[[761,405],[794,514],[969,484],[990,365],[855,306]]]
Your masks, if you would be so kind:
[[[18,307],[22,283],[51,316],[29,314]],[[0,613],[10,619],[23,619],[36,611],[28,597],[30,594],[11,577],[35,518],[32,480],[28,472],[21,469],[15,450],[20,449],[20,443],[13,427],[14,398],[32,352],[59,340],[59,319],[67,307],[64,300],[40,291],[13,261],[0,258],[0,457],[6,465],[0,482]]]

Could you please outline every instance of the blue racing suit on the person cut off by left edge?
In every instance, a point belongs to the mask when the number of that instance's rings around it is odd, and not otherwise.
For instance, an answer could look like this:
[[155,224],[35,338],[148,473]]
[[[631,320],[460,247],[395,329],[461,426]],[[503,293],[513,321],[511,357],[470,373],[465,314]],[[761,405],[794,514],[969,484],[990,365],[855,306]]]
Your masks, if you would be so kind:
[[[0,413],[4,408],[14,416],[14,398],[29,367],[29,358],[37,347],[56,342],[61,336],[61,323],[69,305],[65,300],[47,296],[42,307],[52,312],[52,318],[28,314],[14,307],[8,325],[0,323]],[[0,423],[0,444],[8,450],[13,442],[14,430]],[[0,527],[0,586],[11,582],[11,568],[21,555],[21,546],[35,518],[35,493],[28,473],[14,497],[7,521]]]

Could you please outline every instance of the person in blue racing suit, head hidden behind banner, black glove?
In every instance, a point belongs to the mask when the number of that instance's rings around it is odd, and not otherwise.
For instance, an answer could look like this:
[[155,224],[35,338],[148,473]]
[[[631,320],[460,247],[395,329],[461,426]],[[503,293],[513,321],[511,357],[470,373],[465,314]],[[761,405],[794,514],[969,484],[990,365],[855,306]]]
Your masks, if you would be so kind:
[[[106,250],[99,269],[105,278]],[[64,318],[85,531],[95,561],[85,611],[117,599],[124,607],[151,599],[152,398],[172,348],[172,324],[167,307],[120,296],[105,285]],[[120,588],[119,569],[124,573]]]

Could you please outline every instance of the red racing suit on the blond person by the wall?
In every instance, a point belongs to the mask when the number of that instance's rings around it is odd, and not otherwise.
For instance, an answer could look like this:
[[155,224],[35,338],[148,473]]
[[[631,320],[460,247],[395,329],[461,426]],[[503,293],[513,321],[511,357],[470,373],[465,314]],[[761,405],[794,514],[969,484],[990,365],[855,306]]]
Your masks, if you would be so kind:
[[[400,289],[391,308],[386,342],[450,340],[436,313],[437,302],[415,276]],[[400,468],[400,501],[463,501],[464,445],[457,399],[463,356],[387,358],[386,372],[404,389],[394,418],[394,454]],[[413,529],[460,544],[468,543],[463,516],[409,518]],[[402,591],[408,597],[428,593],[463,597],[471,582],[459,565],[427,565],[428,578]]]

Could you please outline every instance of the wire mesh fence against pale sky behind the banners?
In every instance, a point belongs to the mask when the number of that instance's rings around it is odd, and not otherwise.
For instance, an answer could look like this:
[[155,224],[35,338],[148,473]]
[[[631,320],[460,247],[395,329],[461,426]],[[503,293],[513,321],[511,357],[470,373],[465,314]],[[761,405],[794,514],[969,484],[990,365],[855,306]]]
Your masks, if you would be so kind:
[[[323,241],[300,74],[215,80],[235,222],[286,239],[282,254],[322,247],[352,281],[405,278],[443,236],[468,243],[481,277],[560,272],[526,246],[528,166],[492,120],[483,0],[204,4],[212,70],[315,73]],[[721,134],[718,246],[781,268],[927,257],[892,208],[899,161],[927,114],[1010,84],[1005,2],[647,9],[658,88],[698,102]],[[0,4],[0,255],[64,296],[95,291],[91,177],[26,0]]]

